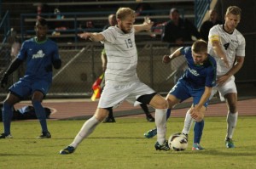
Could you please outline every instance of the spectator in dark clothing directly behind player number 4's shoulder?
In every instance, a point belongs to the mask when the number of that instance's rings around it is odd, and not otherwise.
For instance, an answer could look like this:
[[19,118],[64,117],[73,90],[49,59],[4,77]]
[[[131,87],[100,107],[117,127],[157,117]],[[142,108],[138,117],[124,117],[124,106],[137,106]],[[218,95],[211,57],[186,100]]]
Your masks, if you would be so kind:
[[215,9],[209,10],[209,20],[203,22],[200,28],[201,37],[208,41],[208,34],[213,25],[222,25],[222,21],[218,20],[218,13]]

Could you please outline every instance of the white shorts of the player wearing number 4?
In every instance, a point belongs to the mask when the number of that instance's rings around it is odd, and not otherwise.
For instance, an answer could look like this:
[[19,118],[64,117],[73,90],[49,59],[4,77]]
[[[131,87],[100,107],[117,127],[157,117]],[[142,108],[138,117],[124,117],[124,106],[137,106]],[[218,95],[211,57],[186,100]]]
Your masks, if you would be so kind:
[[221,101],[224,101],[224,95],[227,93],[237,93],[235,76],[231,76],[230,79],[225,82],[222,86],[212,87],[212,93],[210,99],[214,96],[215,93],[219,93],[219,97]]

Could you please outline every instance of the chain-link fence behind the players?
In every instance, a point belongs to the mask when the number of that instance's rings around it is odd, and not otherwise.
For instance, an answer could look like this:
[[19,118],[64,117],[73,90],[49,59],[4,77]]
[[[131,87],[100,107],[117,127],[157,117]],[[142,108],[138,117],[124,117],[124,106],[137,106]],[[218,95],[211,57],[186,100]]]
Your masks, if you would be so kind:
[[[11,59],[8,45],[1,53],[1,76],[7,69]],[[60,70],[53,71],[53,83],[49,89],[48,97],[89,97],[92,94],[91,86],[96,78],[102,75],[103,45],[98,42],[79,43],[73,46],[59,44],[59,52],[62,59]],[[2,51],[2,50],[1,50]],[[162,56],[170,54],[166,44],[162,42],[137,42],[138,65],[137,75],[142,82],[157,92],[166,93],[173,86],[171,65],[161,63]],[[5,56],[4,56],[5,55]],[[20,68],[9,78],[8,86],[17,82],[23,76],[24,68]],[[166,79],[167,78],[167,79]],[[5,97],[8,88],[1,88],[1,97]]]

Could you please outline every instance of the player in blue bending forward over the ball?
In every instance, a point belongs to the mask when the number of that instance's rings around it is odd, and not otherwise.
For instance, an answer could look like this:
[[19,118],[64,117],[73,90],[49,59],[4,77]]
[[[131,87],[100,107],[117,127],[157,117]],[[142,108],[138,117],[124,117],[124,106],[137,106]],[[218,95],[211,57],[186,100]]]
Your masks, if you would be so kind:
[[[185,70],[183,76],[172,87],[172,90],[166,97],[169,109],[171,110],[175,104],[192,97],[193,104],[189,114],[192,118],[197,118],[197,121],[202,121],[207,110],[212,87],[216,84],[216,61],[211,55],[207,54],[207,42],[203,40],[195,41],[192,47],[178,48],[170,56],[165,55],[162,61],[169,63],[172,59],[182,55],[186,59],[188,69]],[[167,116],[170,115],[170,110],[167,111]],[[201,118],[198,118],[195,112],[198,112]],[[151,138],[156,132],[160,135],[159,132],[163,132],[163,130],[165,128],[157,127],[146,132],[145,137]]]

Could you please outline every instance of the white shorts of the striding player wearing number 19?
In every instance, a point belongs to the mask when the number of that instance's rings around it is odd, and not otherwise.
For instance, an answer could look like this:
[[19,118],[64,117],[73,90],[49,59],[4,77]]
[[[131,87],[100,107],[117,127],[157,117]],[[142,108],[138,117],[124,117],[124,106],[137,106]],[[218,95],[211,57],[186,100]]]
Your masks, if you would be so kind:
[[137,101],[140,96],[151,93],[155,93],[154,90],[143,82],[132,82],[126,85],[113,85],[106,83],[98,108],[117,108],[125,99],[136,106],[142,104]]

